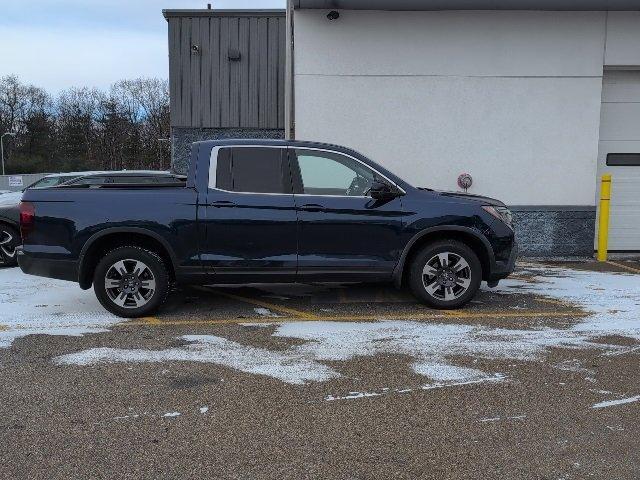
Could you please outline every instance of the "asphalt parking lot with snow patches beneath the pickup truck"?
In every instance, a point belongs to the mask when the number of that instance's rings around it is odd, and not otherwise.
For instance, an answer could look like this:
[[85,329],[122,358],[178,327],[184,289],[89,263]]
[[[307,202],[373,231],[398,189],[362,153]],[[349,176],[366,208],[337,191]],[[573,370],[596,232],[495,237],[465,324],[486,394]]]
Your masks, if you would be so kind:
[[640,477],[640,262],[523,263],[458,311],[190,287],[124,320],[0,270],[0,478]]

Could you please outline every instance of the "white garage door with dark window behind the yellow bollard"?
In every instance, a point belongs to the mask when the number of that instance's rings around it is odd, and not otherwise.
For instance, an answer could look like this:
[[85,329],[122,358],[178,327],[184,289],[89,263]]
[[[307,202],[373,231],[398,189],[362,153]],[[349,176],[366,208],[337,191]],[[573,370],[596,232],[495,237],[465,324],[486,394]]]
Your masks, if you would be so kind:
[[640,71],[607,71],[602,85],[598,178],[613,177],[609,250],[640,250]]

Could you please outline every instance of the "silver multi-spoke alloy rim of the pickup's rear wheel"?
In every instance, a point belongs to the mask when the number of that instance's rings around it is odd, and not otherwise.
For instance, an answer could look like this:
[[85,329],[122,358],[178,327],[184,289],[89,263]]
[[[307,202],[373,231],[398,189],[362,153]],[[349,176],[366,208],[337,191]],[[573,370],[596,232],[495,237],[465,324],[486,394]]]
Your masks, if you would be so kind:
[[119,260],[107,269],[104,288],[109,299],[122,308],[140,308],[153,298],[156,279],[140,260]]

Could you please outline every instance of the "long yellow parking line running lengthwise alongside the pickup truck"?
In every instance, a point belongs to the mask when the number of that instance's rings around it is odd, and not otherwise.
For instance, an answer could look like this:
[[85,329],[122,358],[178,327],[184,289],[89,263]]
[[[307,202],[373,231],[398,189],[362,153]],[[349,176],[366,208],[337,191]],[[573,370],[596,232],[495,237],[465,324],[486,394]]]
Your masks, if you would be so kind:
[[312,317],[273,317],[273,318],[213,318],[208,320],[159,320],[150,323],[147,319],[138,321],[132,320],[123,322],[117,326],[181,326],[181,325],[226,325],[239,323],[290,323],[290,322],[363,322],[376,320],[443,320],[447,318],[460,319],[482,319],[482,318],[560,318],[560,317],[584,317],[589,315],[588,312],[572,311],[572,312],[555,312],[555,311],[538,311],[538,312],[457,312],[457,313],[405,313],[396,315],[335,315],[320,317],[313,315]]

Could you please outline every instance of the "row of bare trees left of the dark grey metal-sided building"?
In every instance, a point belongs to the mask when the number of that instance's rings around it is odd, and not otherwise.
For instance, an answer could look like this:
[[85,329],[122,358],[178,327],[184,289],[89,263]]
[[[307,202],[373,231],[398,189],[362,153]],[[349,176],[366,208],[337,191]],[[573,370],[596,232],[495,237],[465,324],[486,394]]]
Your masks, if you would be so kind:
[[105,93],[70,88],[52,99],[16,76],[0,78],[0,133],[16,131],[12,172],[167,169],[166,80],[122,80]]

